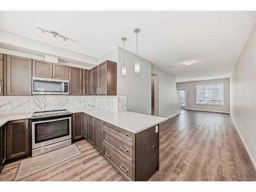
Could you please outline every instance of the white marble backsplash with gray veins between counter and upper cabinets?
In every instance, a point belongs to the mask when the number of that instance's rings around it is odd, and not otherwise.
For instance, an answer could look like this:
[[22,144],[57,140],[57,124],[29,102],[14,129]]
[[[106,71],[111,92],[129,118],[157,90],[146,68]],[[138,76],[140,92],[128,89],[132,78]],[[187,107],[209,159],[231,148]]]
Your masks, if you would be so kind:
[[126,111],[126,96],[34,95],[0,97],[0,115],[92,107],[114,112]]

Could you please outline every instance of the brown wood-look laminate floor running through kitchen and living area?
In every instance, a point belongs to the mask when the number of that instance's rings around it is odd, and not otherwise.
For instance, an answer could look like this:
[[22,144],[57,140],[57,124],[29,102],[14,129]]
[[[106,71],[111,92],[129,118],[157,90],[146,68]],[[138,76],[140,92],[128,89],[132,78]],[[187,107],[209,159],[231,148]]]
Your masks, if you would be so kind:
[[[22,181],[123,181],[98,151],[84,140],[81,155]],[[4,166],[0,181],[13,181],[20,161]],[[160,125],[160,170],[150,181],[256,181],[229,114],[182,110]]]

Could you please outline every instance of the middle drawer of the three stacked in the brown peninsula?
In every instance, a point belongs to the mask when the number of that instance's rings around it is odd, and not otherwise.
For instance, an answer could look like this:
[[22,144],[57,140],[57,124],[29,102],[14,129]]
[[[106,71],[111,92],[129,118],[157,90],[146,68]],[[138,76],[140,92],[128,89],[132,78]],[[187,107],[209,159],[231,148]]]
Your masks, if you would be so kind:
[[129,163],[135,165],[135,145],[118,135],[103,129],[103,142]]

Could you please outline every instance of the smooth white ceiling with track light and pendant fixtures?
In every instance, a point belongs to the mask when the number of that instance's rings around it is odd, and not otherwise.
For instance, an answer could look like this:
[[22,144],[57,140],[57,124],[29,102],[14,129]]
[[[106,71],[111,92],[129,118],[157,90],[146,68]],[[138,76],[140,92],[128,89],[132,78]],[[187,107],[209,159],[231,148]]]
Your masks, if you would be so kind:
[[[122,47],[122,36],[135,53],[133,30],[139,27],[139,55],[175,74],[178,82],[229,77],[255,21],[256,11],[0,12],[2,30],[94,57]],[[36,27],[72,40],[65,46],[48,34],[41,37]],[[188,60],[194,64],[185,66]]]

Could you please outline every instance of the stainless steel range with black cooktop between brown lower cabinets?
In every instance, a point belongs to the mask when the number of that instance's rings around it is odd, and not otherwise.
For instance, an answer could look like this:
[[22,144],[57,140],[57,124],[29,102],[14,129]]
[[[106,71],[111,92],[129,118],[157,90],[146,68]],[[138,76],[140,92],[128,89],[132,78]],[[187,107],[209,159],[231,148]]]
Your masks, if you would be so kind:
[[32,157],[71,145],[71,113],[68,110],[34,112]]

